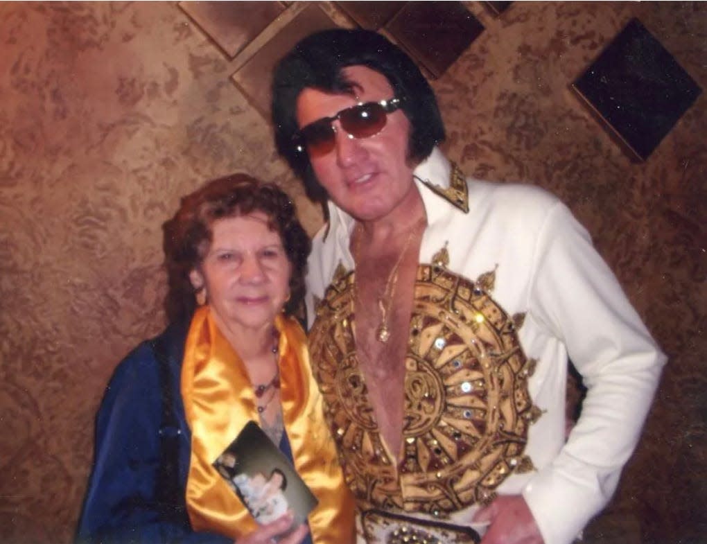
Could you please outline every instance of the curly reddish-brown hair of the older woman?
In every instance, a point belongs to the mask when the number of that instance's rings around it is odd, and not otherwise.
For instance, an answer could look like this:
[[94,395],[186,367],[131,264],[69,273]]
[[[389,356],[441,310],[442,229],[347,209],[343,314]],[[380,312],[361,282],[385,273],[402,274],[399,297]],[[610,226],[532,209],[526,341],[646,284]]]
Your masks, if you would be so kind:
[[268,216],[269,226],[280,235],[292,265],[285,312],[292,315],[300,310],[310,239],[297,219],[294,204],[281,189],[239,173],[214,179],[183,197],[177,213],[162,225],[168,278],[165,312],[170,322],[191,319],[194,313],[197,301],[189,272],[209,251],[214,221],[254,211]]

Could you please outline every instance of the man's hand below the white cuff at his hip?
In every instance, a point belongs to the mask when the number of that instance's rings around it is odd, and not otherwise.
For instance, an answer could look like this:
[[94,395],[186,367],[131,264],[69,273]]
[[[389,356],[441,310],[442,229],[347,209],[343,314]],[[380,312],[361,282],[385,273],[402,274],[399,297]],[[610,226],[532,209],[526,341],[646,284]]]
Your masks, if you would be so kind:
[[544,544],[535,519],[522,495],[501,495],[472,520],[490,523],[481,544]]

